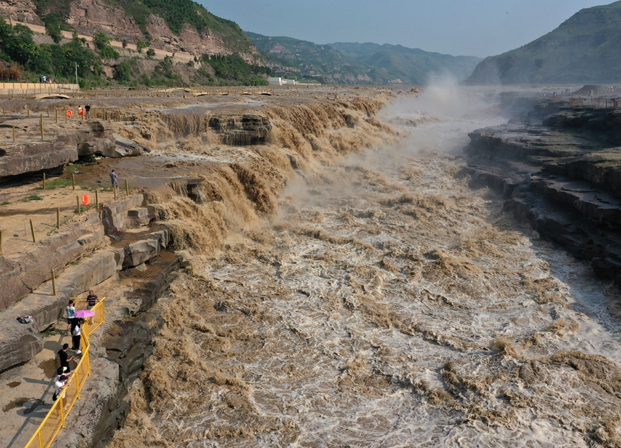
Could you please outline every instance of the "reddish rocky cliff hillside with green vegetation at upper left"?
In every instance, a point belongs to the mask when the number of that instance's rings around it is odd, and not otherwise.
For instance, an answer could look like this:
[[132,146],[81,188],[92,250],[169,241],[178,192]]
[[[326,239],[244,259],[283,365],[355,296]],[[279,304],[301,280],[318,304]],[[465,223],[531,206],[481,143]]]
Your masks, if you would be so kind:
[[12,0],[0,1],[0,16],[113,40],[148,42],[157,50],[202,54],[239,53],[251,61],[259,52],[233,21],[191,0]]

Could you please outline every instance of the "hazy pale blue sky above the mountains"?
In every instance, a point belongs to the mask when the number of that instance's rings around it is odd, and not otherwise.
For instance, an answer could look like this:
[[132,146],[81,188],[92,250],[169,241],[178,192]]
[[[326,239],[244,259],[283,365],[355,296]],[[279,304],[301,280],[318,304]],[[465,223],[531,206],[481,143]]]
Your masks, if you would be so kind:
[[606,0],[197,0],[244,31],[315,43],[400,44],[486,57],[520,47]]

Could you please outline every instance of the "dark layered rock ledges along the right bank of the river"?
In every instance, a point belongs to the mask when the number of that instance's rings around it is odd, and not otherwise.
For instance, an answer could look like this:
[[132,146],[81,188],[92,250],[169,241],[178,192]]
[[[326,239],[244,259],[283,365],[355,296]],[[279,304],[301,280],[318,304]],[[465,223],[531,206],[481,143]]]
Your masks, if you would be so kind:
[[[546,112],[553,112],[547,114]],[[522,120],[470,134],[471,186],[621,283],[621,111],[540,103]]]

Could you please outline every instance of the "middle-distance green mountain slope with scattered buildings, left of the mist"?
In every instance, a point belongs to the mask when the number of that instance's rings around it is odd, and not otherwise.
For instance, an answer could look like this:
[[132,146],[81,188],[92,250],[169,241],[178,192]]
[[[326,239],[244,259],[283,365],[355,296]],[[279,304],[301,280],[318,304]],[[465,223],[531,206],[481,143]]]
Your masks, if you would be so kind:
[[268,54],[273,63],[282,65],[286,76],[320,78],[328,83],[383,84],[387,74],[345,57],[329,45],[300,41],[291,37],[268,37],[246,32],[259,50]]

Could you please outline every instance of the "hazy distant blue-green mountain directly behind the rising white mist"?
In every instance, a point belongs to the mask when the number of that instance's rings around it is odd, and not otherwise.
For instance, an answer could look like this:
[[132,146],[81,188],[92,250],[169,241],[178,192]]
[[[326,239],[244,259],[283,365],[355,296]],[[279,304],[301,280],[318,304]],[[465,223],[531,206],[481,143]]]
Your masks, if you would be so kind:
[[432,73],[453,74],[462,81],[469,77],[482,59],[473,56],[451,56],[426,52],[402,45],[378,45],[377,43],[331,43],[345,56],[356,61],[382,68],[388,72],[391,82],[422,84]]

